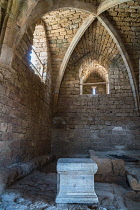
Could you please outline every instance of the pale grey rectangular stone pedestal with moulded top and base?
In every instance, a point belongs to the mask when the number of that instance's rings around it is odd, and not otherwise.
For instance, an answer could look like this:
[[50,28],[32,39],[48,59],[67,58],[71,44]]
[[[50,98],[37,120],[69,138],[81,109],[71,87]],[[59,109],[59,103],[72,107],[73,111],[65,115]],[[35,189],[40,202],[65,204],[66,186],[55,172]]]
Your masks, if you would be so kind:
[[89,158],[60,158],[56,203],[98,203],[94,191],[97,164]]

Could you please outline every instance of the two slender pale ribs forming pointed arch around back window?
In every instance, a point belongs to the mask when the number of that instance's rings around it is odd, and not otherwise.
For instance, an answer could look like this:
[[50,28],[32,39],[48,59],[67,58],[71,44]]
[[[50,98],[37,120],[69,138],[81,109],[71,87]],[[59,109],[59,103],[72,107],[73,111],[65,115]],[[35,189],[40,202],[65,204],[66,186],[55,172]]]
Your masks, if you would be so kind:
[[[126,51],[126,49],[125,49],[125,47],[122,43],[121,38],[119,37],[117,31],[110,24],[108,19],[104,15],[100,15],[97,18],[103,24],[103,26],[106,28],[106,30],[108,31],[110,36],[113,38],[114,42],[116,43],[116,45],[119,49],[119,52],[122,56],[122,59],[124,61],[124,64],[126,66],[126,69],[127,69],[128,75],[129,75],[129,80],[130,80],[130,84],[131,84],[131,88],[132,88],[132,92],[133,92],[133,97],[134,97],[134,102],[135,102],[135,109],[136,109],[137,114],[139,114],[139,94],[138,94],[137,84],[136,84],[136,81],[135,81],[133,66],[131,64],[131,60],[128,56],[128,53],[127,53],[127,51]],[[58,101],[61,82],[62,82],[64,73],[65,73],[65,69],[67,67],[68,61],[70,59],[70,56],[71,56],[72,52],[74,51],[78,41],[80,40],[80,38],[82,37],[82,35],[86,31],[86,29],[94,21],[94,19],[95,19],[95,17],[91,16],[91,18],[89,18],[89,22],[87,21],[87,24],[84,24],[84,23],[82,24],[81,28],[79,28],[79,30],[77,31],[75,37],[73,38],[73,41],[71,42],[71,44],[70,44],[70,46],[69,46],[69,48],[68,48],[68,50],[65,54],[65,57],[62,61],[61,67],[60,67],[59,75],[57,77],[57,83],[56,83],[55,94],[54,94],[54,112],[56,111],[56,106],[57,106],[57,101]],[[80,30],[82,30],[83,33],[80,33]]]

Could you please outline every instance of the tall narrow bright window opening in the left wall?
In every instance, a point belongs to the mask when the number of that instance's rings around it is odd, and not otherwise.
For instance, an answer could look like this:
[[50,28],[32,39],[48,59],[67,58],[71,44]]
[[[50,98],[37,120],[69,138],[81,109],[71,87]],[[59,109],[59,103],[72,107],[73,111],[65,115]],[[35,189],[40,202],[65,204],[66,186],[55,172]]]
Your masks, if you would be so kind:
[[46,33],[42,25],[35,27],[30,56],[30,66],[41,79],[45,79],[47,69],[47,42]]

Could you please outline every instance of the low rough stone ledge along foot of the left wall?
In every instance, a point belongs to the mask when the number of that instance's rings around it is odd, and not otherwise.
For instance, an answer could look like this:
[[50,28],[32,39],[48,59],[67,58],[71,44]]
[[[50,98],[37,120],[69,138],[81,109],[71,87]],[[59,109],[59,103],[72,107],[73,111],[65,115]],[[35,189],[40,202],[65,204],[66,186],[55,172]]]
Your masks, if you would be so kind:
[[44,155],[28,162],[10,165],[0,169],[0,194],[17,180],[27,176],[33,170],[45,166],[55,159],[54,155]]

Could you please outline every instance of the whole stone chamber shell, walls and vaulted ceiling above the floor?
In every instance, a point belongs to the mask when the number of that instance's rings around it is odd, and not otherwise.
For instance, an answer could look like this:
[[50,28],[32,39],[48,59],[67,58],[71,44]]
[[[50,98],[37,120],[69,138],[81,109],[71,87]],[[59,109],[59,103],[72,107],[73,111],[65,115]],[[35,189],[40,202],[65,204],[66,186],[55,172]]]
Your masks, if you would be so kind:
[[0,166],[140,149],[139,59],[139,0],[2,0]]

